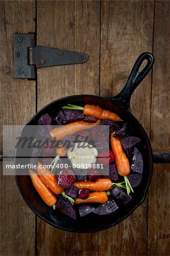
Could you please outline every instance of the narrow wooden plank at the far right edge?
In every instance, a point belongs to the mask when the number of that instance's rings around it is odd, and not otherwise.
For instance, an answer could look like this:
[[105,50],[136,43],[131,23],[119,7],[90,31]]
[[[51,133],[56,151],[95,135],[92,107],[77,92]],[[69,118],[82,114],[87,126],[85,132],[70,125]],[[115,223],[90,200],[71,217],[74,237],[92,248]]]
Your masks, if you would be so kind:
[[[155,2],[151,143],[154,151],[169,151],[170,123],[170,2]],[[156,164],[149,192],[148,255],[168,256],[170,249],[169,164]]]

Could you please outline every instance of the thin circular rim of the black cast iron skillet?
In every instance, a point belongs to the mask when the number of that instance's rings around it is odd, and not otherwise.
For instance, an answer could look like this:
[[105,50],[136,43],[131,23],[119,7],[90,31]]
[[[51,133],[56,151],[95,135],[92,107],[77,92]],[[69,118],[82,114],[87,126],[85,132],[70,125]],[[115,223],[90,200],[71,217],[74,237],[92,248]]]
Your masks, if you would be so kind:
[[[28,203],[27,199],[24,197],[23,193],[22,193],[22,190],[20,189],[20,186],[19,186],[19,182],[18,182],[18,176],[19,175],[16,175],[16,170],[15,170],[15,181],[16,181],[16,185],[18,187],[18,190],[20,192],[20,195],[22,196],[23,200],[25,201],[25,203],[27,204],[27,206],[32,210],[32,212],[35,213],[36,216],[38,216],[40,219],[42,219],[43,221],[45,221],[47,224],[49,225],[52,225],[53,227],[55,228],[59,228],[61,230],[64,230],[64,231],[68,231],[68,232],[73,232],[73,233],[92,233],[92,232],[99,232],[101,230],[106,230],[108,228],[111,228],[112,226],[115,226],[117,224],[119,224],[121,221],[125,220],[128,216],[130,216],[141,204],[143,204],[143,202],[146,200],[146,196],[147,196],[147,192],[148,192],[148,188],[150,187],[150,183],[151,183],[151,178],[152,178],[152,174],[153,174],[153,154],[152,154],[152,147],[151,147],[151,143],[150,143],[150,140],[148,139],[148,136],[146,134],[146,131],[144,130],[143,126],[140,124],[140,122],[138,121],[138,119],[135,118],[135,116],[131,113],[130,109],[125,109],[123,107],[121,107],[119,104],[117,104],[117,102],[113,101],[114,98],[116,99],[117,96],[115,97],[108,97],[108,98],[105,98],[105,97],[101,97],[101,96],[96,96],[96,95],[92,95],[92,94],[74,94],[72,96],[66,96],[66,97],[63,97],[63,98],[59,98],[57,100],[54,100],[52,102],[49,102],[47,105],[43,106],[43,108],[41,108],[38,112],[36,112],[30,119],[28,119],[28,121],[26,123],[24,123],[24,125],[22,126],[22,128],[20,129],[20,134],[22,134],[22,131],[24,129],[24,127],[26,125],[28,125],[32,119],[34,119],[36,117],[36,115],[38,115],[40,112],[42,112],[42,110],[44,110],[45,108],[47,108],[48,106],[50,106],[51,104],[54,104],[55,102],[57,101],[61,101],[61,100],[67,100],[68,98],[77,98],[77,97],[90,97],[90,98],[98,98],[100,100],[104,100],[104,101],[108,101],[110,102],[111,104],[114,104],[116,106],[118,106],[118,108],[121,108],[123,110],[123,112],[126,112],[128,115],[131,115],[131,117],[134,119],[134,121],[136,123],[138,123],[138,125],[140,126],[140,129],[142,130],[143,134],[144,134],[144,137],[146,138],[147,140],[147,143],[148,143],[148,148],[149,148],[149,151],[150,151],[150,160],[151,160],[151,163],[150,163],[150,174],[149,174],[149,179],[147,181],[147,185],[146,185],[146,189],[144,190],[143,192],[143,198],[142,200],[140,200],[140,202],[138,204],[135,205],[134,208],[131,209],[131,211],[126,214],[125,217],[121,218],[120,220],[112,223],[112,224],[109,224],[109,225],[106,225],[105,228],[97,228],[97,229],[90,229],[90,230],[81,230],[81,229],[69,229],[69,228],[61,228],[61,226],[57,226],[55,224],[53,224],[51,221],[48,221],[47,219],[45,219],[44,217],[42,217],[38,212],[36,212],[36,210],[32,207],[32,205],[30,203]],[[19,135],[20,135],[19,134]],[[17,151],[17,148],[15,149],[15,155],[14,155],[14,163],[16,161],[16,151]]]

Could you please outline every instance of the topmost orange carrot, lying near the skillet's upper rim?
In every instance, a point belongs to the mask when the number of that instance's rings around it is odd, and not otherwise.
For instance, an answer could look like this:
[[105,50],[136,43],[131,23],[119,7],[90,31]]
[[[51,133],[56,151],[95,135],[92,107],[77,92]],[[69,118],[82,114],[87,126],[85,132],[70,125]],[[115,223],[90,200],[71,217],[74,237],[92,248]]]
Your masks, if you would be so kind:
[[83,113],[85,115],[92,115],[93,117],[96,117],[99,119],[109,119],[112,121],[121,121],[121,118],[117,114],[111,112],[110,110],[102,109],[99,106],[86,104],[84,106]]

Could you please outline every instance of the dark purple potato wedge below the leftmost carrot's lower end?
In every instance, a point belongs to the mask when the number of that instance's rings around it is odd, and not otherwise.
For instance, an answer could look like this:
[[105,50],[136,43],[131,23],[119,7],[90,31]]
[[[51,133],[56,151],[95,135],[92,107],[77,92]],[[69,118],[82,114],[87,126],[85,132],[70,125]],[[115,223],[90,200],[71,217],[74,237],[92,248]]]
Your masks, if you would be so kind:
[[67,199],[60,197],[59,201],[56,203],[56,209],[73,218],[74,220],[76,219],[76,210]]

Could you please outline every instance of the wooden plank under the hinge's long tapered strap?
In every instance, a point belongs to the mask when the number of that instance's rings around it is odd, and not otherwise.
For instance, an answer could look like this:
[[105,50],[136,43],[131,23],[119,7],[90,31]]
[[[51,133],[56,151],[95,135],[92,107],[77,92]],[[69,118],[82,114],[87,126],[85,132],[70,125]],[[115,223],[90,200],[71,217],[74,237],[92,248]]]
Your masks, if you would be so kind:
[[[38,109],[60,97],[98,94],[99,2],[38,1],[37,10],[38,44],[89,55],[85,64],[39,69]],[[38,219],[38,255],[96,255],[97,241],[97,233],[63,232]]]

